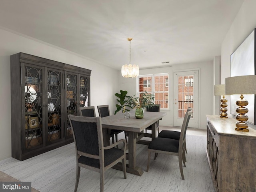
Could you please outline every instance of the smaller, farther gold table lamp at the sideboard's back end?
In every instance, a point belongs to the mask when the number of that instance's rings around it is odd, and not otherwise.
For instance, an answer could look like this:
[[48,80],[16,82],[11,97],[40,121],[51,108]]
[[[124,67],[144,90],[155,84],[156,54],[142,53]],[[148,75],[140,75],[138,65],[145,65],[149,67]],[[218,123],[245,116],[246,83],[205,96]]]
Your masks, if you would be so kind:
[[228,100],[225,98],[225,85],[221,84],[221,85],[214,85],[214,95],[219,95],[219,96],[223,96],[220,99],[220,118],[228,118],[227,117],[227,102]]

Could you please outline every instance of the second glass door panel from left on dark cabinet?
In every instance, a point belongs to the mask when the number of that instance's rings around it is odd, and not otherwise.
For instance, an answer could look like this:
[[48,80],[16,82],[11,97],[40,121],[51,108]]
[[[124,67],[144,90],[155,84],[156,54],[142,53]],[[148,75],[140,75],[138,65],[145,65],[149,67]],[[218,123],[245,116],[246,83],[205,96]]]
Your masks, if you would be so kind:
[[62,73],[60,71],[47,70],[47,142],[59,140],[62,136],[61,77]]

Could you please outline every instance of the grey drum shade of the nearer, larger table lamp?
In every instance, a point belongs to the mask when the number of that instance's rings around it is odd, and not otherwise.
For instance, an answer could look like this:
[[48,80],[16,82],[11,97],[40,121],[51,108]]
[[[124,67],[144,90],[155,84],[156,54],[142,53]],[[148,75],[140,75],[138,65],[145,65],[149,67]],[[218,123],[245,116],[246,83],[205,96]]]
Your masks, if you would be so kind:
[[256,94],[256,75],[225,78],[225,94]]

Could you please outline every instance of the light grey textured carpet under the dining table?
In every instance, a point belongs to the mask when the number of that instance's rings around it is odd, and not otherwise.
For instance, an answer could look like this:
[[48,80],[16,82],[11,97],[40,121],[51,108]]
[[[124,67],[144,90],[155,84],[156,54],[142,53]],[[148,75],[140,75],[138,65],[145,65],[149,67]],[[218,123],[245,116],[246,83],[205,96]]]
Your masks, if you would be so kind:
[[[137,144],[137,166],[144,170],[142,176],[110,169],[105,173],[104,192],[214,192],[208,160],[206,137],[186,135],[188,154],[182,180],[178,157],[158,154],[151,156],[146,172],[148,146]],[[0,170],[23,181],[32,182],[40,192],[73,192],[76,175],[74,143],[46,152],[28,160],[7,158],[0,161]],[[100,191],[100,175],[81,168],[78,192]]]

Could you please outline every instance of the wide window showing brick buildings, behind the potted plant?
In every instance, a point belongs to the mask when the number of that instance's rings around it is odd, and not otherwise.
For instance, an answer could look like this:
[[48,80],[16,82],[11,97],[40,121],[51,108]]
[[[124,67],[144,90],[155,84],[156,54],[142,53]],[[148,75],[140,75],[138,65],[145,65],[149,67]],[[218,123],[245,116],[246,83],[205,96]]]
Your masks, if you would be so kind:
[[154,74],[138,76],[137,95],[146,91],[148,94],[155,95],[155,104],[160,104],[161,108],[168,109],[168,95],[169,95],[169,75]]

